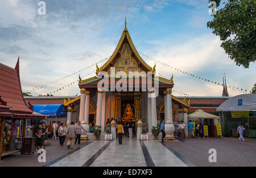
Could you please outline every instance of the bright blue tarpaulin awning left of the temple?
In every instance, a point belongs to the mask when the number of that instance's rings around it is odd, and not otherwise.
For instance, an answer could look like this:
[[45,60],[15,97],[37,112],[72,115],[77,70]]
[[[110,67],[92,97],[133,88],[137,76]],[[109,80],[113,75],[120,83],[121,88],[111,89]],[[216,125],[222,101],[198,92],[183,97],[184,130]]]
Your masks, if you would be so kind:
[[33,104],[34,112],[44,116],[66,116],[63,104]]

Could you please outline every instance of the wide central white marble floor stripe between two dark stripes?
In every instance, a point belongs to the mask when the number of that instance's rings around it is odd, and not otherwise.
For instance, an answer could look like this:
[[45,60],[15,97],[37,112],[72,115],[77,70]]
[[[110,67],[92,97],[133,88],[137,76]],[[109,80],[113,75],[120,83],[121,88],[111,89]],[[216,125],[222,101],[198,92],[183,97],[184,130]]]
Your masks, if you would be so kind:
[[115,139],[90,166],[146,167],[140,141],[123,138],[122,145]]

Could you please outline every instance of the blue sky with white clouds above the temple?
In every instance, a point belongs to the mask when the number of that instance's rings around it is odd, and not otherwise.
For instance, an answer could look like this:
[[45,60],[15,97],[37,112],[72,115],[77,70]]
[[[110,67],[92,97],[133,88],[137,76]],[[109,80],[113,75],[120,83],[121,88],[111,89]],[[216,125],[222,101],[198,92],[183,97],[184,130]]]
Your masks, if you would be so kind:
[[[0,1],[0,63],[15,67],[20,57],[22,90],[34,96],[80,94],[79,74],[82,79],[94,77],[93,64],[112,55],[125,16],[138,52],[195,75],[156,63],[160,76],[174,75],[174,95],[222,95],[222,86],[196,76],[222,83],[226,73],[227,85],[239,88],[228,88],[230,96],[243,94],[241,88],[250,91],[256,82],[255,63],[249,69],[236,66],[220,47],[219,37],[207,28],[212,20],[208,0],[45,0],[46,15],[39,15],[38,2]],[[61,80],[53,82],[57,79]]]

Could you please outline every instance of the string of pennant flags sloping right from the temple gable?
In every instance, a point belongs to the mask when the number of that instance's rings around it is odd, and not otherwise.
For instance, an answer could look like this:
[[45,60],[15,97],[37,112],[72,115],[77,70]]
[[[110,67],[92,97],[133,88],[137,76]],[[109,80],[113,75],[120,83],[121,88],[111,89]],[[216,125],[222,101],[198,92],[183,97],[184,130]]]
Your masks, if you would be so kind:
[[[147,54],[143,54],[143,53],[141,53],[141,52],[139,52],[139,54],[141,54],[141,55],[144,56],[144,57],[147,57],[148,59],[150,59],[150,60],[152,60],[152,61],[155,61],[155,62],[157,62],[157,63],[160,63],[161,65],[164,65],[164,66],[167,66],[167,67],[171,67],[171,69],[174,69],[174,70],[176,70],[176,71],[179,71],[180,73],[183,73],[184,75],[189,75],[189,76],[191,76],[191,77],[195,77],[195,78],[200,79],[200,80],[203,80],[203,81],[205,81],[205,82],[210,82],[210,83],[216,84],[216,85],[218,85],[218,86],[223,86],[223,84],[220,83],[220,82],[214,82],[214,81],[212,81],[212,80],[209,80],[209,79],[206,79],[206,78],[203,78],[203,77],[199,77],[199,76],[197,76],[197,75],[195,75],[195,74],[188,73],[187,71],[180,70],[180,69],[178,69],[178,68],[176,68],[176,67],[174,67],[174,66],[168,65],[167,63],[164,63],[164,62],[161,62],[161,61],[159,61],[159,60],[156,60],[155,58],[152,58],[152,57],[148,56]],[[229,87],[231,90],[236,90],[236,91],[240,91],[240,92],[243,92],[243,93],[247,93],[247,90],[244,89],[244,88],[239,88],[239,87],[234,87],[234,86],[227,86],[227,87]]]

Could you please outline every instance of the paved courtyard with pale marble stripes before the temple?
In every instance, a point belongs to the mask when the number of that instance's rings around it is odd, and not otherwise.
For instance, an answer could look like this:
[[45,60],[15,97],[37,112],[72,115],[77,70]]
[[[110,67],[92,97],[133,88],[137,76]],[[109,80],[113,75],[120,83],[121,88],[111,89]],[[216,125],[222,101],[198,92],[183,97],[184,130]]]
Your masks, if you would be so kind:
[[[114,141],[88,141],[73,150],[49,139],[46,163],[39,163],[36,153],[13,154],[2,158],[2,166],[256,166],[256,139],[239,142],[237,138],[189,138],[185,141],[139,141],[124,138]],[[216,149],[217,163],[209,163],[209,149]]]

